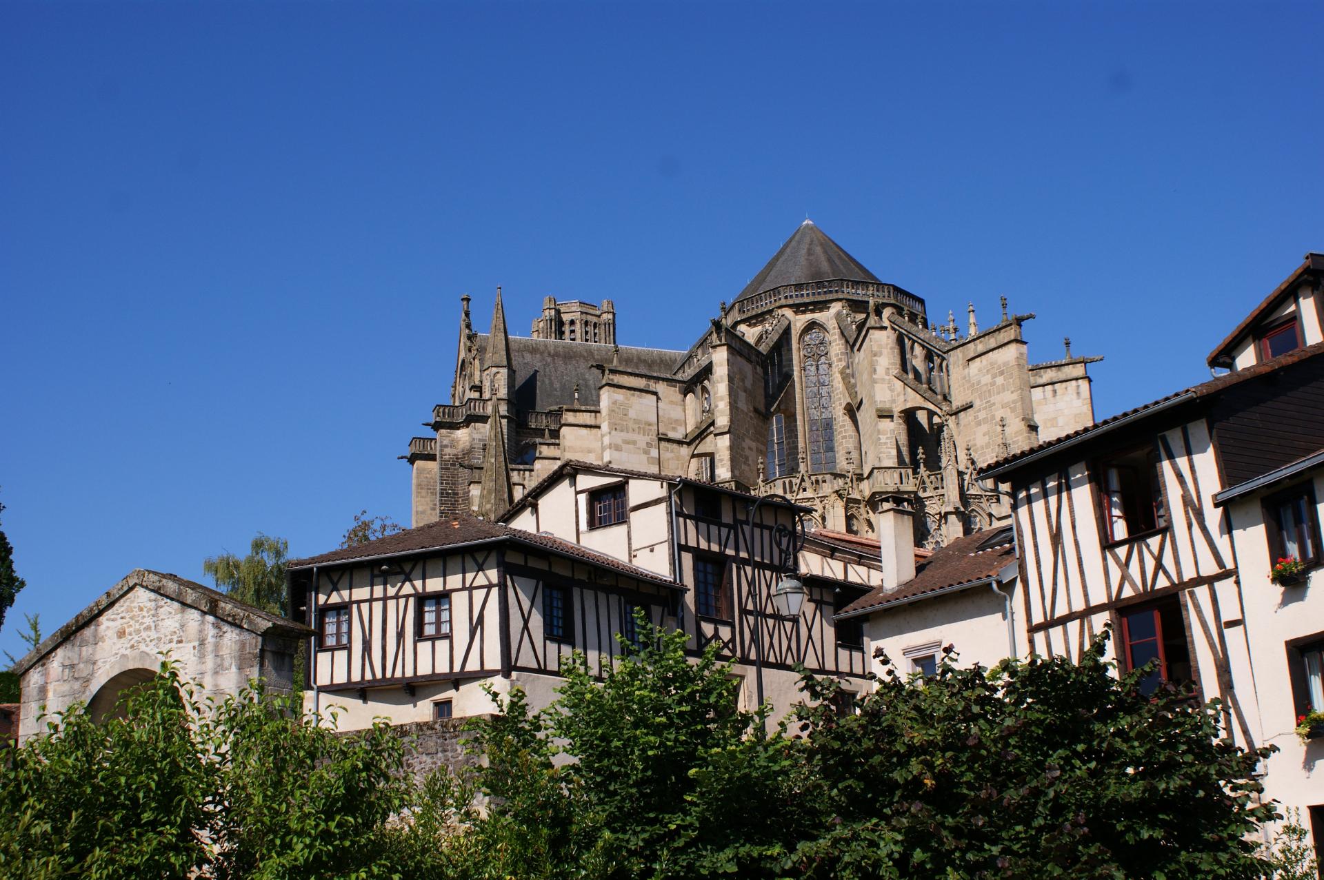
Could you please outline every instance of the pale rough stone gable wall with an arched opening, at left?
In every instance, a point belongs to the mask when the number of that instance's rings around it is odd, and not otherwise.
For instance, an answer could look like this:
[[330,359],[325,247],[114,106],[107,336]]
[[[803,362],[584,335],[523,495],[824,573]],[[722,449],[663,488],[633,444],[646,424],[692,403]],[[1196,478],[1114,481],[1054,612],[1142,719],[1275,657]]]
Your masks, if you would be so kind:
[[42,707],[57,712],[77,700],[90,703],[122,672],[155,671],[162,651],[169,651],[181,675],[199,682],[204,695],[234,693],[258,675],[262,647],[254,633],[134,586],[23,676],[19,736],[45,729],[37,723]]

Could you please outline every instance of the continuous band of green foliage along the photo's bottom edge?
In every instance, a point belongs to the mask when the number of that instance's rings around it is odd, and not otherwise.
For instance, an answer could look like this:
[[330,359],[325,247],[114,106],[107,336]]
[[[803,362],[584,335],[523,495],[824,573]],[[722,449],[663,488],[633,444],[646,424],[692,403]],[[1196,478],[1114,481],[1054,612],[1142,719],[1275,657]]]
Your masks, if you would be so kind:
[[[583,655],[535,712],[471,721],[485,761],[422,783],[383,724],[336,736],[254,687],[199,701],[163,666],[124,719],[82,707],[0,773],[0,875],[617,880],[626,877],[1304,876],[1303,832],[1256,850],[1267,750],[1218,738],[1217,703],[1139,691],[1100,638],[1080,663],[903,678],[837,711],[804,678],[777,729],[736,708],[731,664],[637,619],[601,678]],[[625,643],[622,642],[622,646]]]

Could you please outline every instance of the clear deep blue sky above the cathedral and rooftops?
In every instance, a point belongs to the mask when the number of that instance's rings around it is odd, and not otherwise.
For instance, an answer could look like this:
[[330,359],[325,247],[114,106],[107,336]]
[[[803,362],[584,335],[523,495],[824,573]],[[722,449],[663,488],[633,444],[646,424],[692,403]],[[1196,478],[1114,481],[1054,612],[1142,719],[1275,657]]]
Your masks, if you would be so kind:
[[685,348],[805,217],[1099,417],[1324,249],[1324,7],[0,5],[0,502],[49,633],[409,519],[458,296]]

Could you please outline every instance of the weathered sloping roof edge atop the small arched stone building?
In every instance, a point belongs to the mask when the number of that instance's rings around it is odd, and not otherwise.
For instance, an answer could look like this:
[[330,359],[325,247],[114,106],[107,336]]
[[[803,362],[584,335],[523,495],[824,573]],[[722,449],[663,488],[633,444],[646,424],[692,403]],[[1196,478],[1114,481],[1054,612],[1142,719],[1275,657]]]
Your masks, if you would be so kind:
[[295,623],[294,621],[289,621],[283,617],[269,614],[246,602],[240,602],[233,595],[226,595],[225,593],[213,590],[209,586],[203,586],[201,584],[183,578],[179,574],[164,574],[162,572],[139,568],[130,572],[123,580],[115,584],[115,586],[102,593],[101,598],[74,615],[74,619],[61,626],[45,638],[41,644],[34,647],[25,656],[20,658],[19,662],[13,664],[13,671],[19,675],[25,674],[37,663],[37,660],[56,650],[56,647],[58,647],[65,639],[86,626],[90,621],[110,607],[119,597],[135,586],[151,590],[168,599],[173,599],[181,605],[187,605],[205,614],[211,614],[212,617],[217,617],[250,633],[257,633],[258,635],[265,635],[270,631],[294,637],[312,635],[312,630],[302,623]]

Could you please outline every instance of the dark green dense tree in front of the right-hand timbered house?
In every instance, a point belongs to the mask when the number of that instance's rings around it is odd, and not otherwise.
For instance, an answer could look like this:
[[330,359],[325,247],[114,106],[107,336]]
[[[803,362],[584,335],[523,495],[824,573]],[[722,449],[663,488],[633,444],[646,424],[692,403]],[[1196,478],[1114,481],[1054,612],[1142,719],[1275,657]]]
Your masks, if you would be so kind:
[[806,760],[826,798],[805,877],[1259,877],[1249,842],[1271,805],[1251,774],[1271,749],[1219,737],[1217,701],[1140,692],[1107,634],[1062,658],[886,674],[838,716],[833,682],[806,679]]

